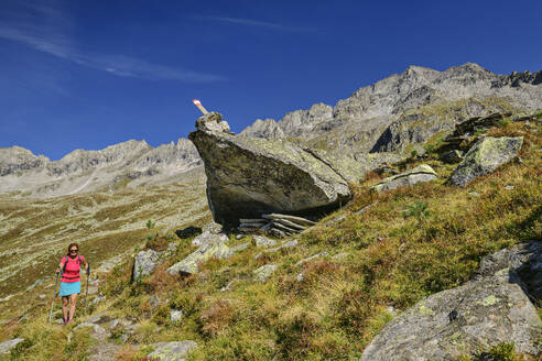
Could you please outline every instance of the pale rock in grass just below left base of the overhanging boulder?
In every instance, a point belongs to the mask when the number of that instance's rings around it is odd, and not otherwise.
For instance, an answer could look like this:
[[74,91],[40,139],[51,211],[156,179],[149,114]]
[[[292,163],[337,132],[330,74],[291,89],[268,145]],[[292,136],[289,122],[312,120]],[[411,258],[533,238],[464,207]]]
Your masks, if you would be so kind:
[[188,275],[199,272],[200,262],[208,261],[212,258],[228,259],[234,253],[231,250],[218,238],[216,242],[208,242],[202,244],[196,251],[191,253],[184,260],[173,264],[167,269],[170,274]]

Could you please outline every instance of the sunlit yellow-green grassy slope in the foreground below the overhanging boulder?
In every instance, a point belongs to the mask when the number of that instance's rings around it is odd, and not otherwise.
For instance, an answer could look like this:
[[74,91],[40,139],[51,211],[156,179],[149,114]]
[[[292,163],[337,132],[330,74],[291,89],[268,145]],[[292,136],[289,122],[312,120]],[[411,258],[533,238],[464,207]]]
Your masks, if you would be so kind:
[[[131,344],[197,341],[191,360],[356,359],[391,319],[390,306],[404,310],[422,297],[467,281],[481,256],[541,239],[541,131],[542,127],[533,131],[511,122],[489,130],[490,135],[525,136],[521,163],[501,166],[465,188],[444,185],[453,167],[431,154],[399,167],[423,161],[442,175],[437,182],[376,195],[368,190],[378,182],[372,176],[355,186],[356,197],[347,207],[300,236],[294,249],[256,260],[261,250],[250,247],[229,260],[212,260],[199,274],[181,280],[164,270],[194,250],[185,241],[175,256],[137,285],[129,284],[131,264],[122,264],[101,288],[108,302],[99,310],[141,321]],[[505,188],[510,185],[513,189]],[[345,219],[326,226],[343,214]],[[323,251],[349,255],[295,265]],[[254,282],[252,271],[269,263],[278,264],[278,272],[264,284]],[[302,282],[296,281],[300,272]],[[230,281],[231,288],[220,292]],[[151,295],[169,302],[151,311]],[[170,308],[183,309],[183,319],[170,324]],[[93,341],[84,331],[67,342],[66,329],[46,326],[44,307],[31,314],[37,317],[30,322],[3,327],[4,338],[29,340],[19,357],[85,359]],[[36,346],[30,349],[32,344]],[[139,360],[150,350],[124,344],[118,357]]]

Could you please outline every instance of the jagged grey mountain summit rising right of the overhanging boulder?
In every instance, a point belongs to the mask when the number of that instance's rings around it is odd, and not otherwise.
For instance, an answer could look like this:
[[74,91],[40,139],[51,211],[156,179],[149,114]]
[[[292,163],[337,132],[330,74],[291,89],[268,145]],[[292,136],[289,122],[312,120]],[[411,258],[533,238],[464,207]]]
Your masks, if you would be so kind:
[[[359,88],[333,108],[317,103],[308,110],[289,112],[279,121],[257,120],[241,134],[299,138],[311,146],[367,153],[392,124],[397,128],[403,121],[424,121],[427,107],[447,109],[442,114],[446,119],[429,120],[427,128],[434,130],[429,133],[451,128],[453,121],[468,117],[511,108],[539,109],[542,107],[541,84],[542,72],[499,75],[475,63],[452,66],[444,72],[411,65],[401,74]],[[412,116],[416,111],[419,114]],[[429,133],[418,142],[426,140]],[[401,147],[415,141],[415,136],[410,138]]]

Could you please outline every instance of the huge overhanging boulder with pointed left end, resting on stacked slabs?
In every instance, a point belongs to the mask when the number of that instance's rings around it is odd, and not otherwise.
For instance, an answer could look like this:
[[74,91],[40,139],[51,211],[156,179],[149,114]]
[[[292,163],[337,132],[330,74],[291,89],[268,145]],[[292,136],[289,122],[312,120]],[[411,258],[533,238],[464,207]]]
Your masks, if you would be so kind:
[[[212,124],[212,125],[210,125]],[[339,207],[353,196],[353,162],[285,140],[232,135],[219,113],[197,120],[189,134],[205,163],[207,198],[214,219],[237,226],[262,214],[307,215]],[[359,169],[357,179],[362,178]]]

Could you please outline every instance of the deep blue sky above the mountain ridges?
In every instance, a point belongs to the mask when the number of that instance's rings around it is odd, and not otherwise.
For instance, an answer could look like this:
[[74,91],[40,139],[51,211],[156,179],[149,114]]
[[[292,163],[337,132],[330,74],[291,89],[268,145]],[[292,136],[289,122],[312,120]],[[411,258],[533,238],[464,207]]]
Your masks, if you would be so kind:
[[61,158],[239,132],[409,65],[542,69],[541,1],[0,1],[0,147]]

